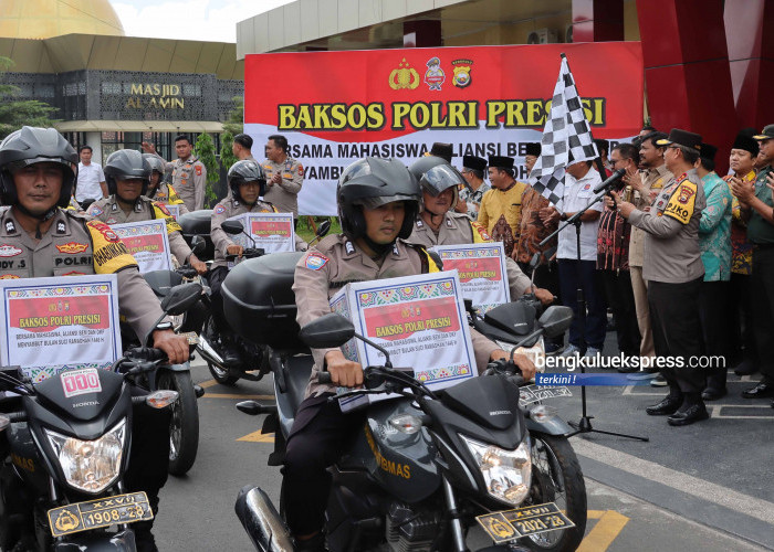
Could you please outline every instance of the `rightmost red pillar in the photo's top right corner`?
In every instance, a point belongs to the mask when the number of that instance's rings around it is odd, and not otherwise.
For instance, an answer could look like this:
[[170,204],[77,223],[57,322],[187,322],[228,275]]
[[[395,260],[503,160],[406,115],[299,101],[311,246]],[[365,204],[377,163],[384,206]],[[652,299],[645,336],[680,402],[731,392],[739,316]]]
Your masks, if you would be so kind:
[[725,0],[725,36],[740,126],[774,123],[774,3]]

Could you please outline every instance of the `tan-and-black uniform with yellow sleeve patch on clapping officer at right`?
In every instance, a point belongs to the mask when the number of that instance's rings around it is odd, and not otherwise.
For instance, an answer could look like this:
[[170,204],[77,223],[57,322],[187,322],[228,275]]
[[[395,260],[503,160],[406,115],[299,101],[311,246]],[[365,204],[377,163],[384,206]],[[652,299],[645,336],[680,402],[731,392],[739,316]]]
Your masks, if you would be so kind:
[[648,282],[648,304],[653,344],[659,357],[682,357],[686,368],[665,369],[670,388],[701,393],[704,373],[688,368],[688,358],[702,353],[699,293],[704,276],[699,248],[699,224],[707,205],[695,169],[671,178],[650,205],[634,211],[632,226],[647,232],[642,277]]

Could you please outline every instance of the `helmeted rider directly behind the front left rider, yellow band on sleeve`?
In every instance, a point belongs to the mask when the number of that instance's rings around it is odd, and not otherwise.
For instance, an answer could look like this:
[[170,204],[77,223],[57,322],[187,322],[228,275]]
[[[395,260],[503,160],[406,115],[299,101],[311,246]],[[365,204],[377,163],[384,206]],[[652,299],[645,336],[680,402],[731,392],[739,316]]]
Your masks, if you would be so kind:
[[150,166],[139,151],[119,149],[107,158],[103,168],[109,197],[92,204],[86,214],[107,224],[165,220],[169,250],[180,265],[190,263],[199,273],[207,273],[207,265],[199,261],[180,234],[180,225],[164,206],[145,194],[150,183]]

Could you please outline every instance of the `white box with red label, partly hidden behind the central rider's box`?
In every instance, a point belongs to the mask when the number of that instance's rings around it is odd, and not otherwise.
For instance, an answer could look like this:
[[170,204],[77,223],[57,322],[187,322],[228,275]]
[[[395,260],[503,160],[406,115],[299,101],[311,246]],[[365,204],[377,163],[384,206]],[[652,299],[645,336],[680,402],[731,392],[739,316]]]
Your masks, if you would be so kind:
[[511,301],[502,243],[438,245],[432,251],[443,261],[443,269],[457,269],[462,296],[481,312]]

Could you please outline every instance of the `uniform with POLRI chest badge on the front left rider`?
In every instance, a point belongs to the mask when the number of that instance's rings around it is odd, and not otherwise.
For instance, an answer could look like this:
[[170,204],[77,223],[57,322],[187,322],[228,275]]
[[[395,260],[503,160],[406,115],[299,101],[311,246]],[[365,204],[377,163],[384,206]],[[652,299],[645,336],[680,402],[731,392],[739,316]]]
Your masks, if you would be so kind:
[[[115,274],[122,317],[138,336],[154,329],[164,311],[139,275],[137,262],[107,224],[59,209],[50,230],[36,241],[11,208],[0,208],[0,279]],[[146,491],[156,511],[169,464],[169,411],[150,411],[134,408],[124,482],[127,491]]]

